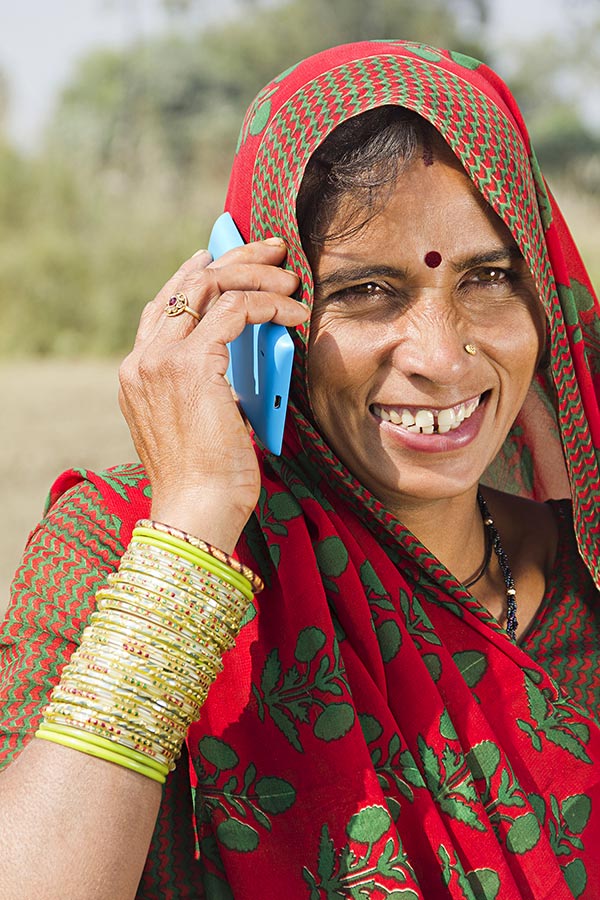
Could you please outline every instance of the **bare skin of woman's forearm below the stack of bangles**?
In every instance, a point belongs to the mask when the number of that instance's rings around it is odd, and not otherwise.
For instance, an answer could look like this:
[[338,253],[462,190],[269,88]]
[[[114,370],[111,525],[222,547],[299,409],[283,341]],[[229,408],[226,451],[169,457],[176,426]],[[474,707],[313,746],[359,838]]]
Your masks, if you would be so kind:
[[0,897],[135,897],[160,799],[143,775],[32,740],[0,775]]

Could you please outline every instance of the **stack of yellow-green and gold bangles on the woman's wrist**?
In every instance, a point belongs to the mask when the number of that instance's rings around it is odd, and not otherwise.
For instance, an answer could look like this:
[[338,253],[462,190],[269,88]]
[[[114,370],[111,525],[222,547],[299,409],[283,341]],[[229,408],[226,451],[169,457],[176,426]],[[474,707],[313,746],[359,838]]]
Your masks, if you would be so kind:
[[141,520],[35,736],[164,783],[262,587],[223,551]]

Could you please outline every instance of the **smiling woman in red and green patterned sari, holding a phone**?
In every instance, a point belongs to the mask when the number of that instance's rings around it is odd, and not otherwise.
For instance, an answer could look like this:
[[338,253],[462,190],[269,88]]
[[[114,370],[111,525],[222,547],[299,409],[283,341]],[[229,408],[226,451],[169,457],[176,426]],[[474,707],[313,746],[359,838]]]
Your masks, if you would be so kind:
[[[123,367],[145,469],[59,479],[15,581],[5,756],[44,739],[3,775],[2,896],[598,896],[597,309],[510,94],[319,54],[249,110],[226,208],[251,243],[184,264]],[[224,380],[269,320],[281,457]],[[569,492],[574,529],[535,502]],[[209,575],[241,630],[200,713]]]

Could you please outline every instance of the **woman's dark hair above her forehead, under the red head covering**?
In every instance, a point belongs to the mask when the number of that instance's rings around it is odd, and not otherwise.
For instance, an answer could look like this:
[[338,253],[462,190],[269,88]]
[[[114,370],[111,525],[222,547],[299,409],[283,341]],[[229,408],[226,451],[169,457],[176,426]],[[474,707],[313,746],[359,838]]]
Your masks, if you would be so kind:
[[[398,175],[419,149],[425,163],[442,141],[433,125],[401,106],[379,106],[338,125],[315,150],[296,201],[302,246],[311,264],[328,240],[352,237],[385,206]],[[330,231],[342,200],[348,214]]]

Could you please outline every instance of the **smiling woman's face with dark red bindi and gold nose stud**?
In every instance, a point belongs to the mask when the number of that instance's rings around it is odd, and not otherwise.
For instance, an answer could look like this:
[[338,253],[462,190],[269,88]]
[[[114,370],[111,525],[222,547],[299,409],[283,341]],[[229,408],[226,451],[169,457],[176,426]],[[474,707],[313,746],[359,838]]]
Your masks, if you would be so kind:
[[[358,235],[327,242],[314,272],[314,415],[391,509],[478,483],[523,403],[544,334],[507,228],[449,151],[428,163],[411,162]],[[331,233],[347,212],[342,202]]]

